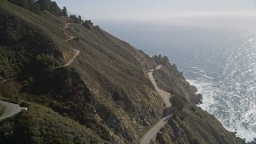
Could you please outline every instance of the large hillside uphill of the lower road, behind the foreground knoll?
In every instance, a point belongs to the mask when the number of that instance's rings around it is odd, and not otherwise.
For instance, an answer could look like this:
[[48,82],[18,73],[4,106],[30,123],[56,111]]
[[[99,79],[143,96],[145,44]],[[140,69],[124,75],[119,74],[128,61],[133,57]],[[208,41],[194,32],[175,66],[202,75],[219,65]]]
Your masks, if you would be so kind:
[[[71,24],[64,29],[70,20],[55,17],[47,11],[42,11],[40,17],[10,3],[3,3],[0,8],[1,22],[11,23],[3,23],[2,30],[10,27],[21,35],[17,42],[7,45],[8,34],[13,33],[4,31],[2,34],[1,46],[16,54],[10,58],[11,54],[1,53],[10,64],[2,64],[6,68],[1,70],[10,69],[1,74],[8,80],[2,82],[2,96],[49,106],[90,127],[99,139],[114,142],[138,142],[147,126],[162,117],[163,102],[146,77],[154,61],[142,51],[98,27],[86,30],[81,24]],[[16,30],[16,26],[26,29]],[[23,35],[28,31],[31,35]],[[40,38],[34,39],[35,35]],[[67,42],[69,35],[79,40]],[[48,41],[44,41],[46,38]],[[24,42],[27,42],[26,46],[19,46]],[[38,47],[40,42],[42,46]],[[12,49],[13,46],[22,53]],[[70,52],[73,48],[81,52],[71,67],[54,69],[73,57]],[[14,69],[17,61],[22,64],[19,70]]]

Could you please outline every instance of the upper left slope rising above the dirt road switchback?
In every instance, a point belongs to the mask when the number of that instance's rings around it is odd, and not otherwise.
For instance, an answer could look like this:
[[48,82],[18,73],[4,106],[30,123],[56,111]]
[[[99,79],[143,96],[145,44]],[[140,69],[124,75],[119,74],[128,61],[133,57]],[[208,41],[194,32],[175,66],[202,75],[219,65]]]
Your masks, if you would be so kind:
[[67,60],[64,54],[72,55],[62,27],[8,2],[0,9],[0,80],[17,76],[40,54],[49,55],[51,65]]

